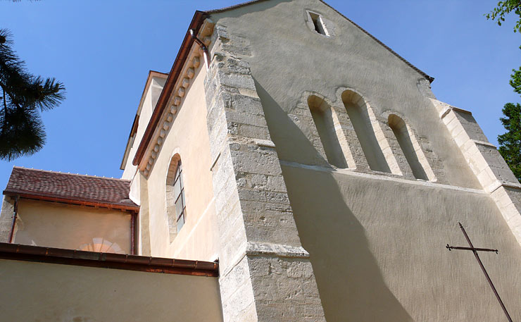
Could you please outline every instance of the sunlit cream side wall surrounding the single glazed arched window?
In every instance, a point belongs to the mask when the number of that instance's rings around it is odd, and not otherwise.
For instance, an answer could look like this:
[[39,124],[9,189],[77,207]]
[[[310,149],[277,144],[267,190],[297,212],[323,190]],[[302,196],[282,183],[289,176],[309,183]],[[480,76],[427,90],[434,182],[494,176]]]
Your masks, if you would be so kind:
[[[214,261],[218,256],[203,87],[205,75],[206,68],[201,64],[190,80],[182,104],[177,106],[172,125],[146,179],[149,222],[145,225],[149,225],[152,256],[206,261]],[[183,228],[170,242],[165,184],[175,154],[179,154],[182,161],[187,216]],[[143,182],[141,185],[144,189]]]

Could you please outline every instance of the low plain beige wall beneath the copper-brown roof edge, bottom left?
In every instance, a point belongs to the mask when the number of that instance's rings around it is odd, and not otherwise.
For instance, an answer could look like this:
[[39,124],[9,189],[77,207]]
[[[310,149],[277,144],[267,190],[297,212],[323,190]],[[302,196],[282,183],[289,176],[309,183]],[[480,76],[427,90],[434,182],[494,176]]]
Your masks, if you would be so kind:
[[0,320],[222,321],[217,278],[0,260]]

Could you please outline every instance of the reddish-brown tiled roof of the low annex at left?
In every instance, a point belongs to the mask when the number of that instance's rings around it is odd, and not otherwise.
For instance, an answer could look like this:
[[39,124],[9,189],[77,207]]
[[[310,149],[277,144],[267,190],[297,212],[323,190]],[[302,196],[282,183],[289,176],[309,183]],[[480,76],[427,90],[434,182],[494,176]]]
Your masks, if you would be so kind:
[[130,181],[14,167],[4,194],[34,199],[137,210]]

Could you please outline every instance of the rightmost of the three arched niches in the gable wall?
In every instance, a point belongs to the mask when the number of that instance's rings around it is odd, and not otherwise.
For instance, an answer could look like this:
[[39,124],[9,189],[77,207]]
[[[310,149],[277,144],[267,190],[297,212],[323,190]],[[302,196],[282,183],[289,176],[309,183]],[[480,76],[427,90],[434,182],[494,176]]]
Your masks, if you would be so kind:
[[420,144],[416,138],[409,132],[406,123],[394,114],[389,115],[389,127],[394,132],[394,136],[403,151],[409,163],[410,170],[413,171],[414,178],[422,180],[434,179],[434,173],[425,159]]

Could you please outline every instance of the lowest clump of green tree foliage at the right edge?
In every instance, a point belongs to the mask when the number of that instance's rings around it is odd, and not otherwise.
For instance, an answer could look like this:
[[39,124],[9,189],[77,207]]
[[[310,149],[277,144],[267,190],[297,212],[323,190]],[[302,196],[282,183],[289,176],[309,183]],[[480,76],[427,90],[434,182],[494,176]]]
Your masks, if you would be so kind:
[[508,132],[498,135],[499,153],[521,182],[521,105],[505,104],[503,115],[500,120]]

